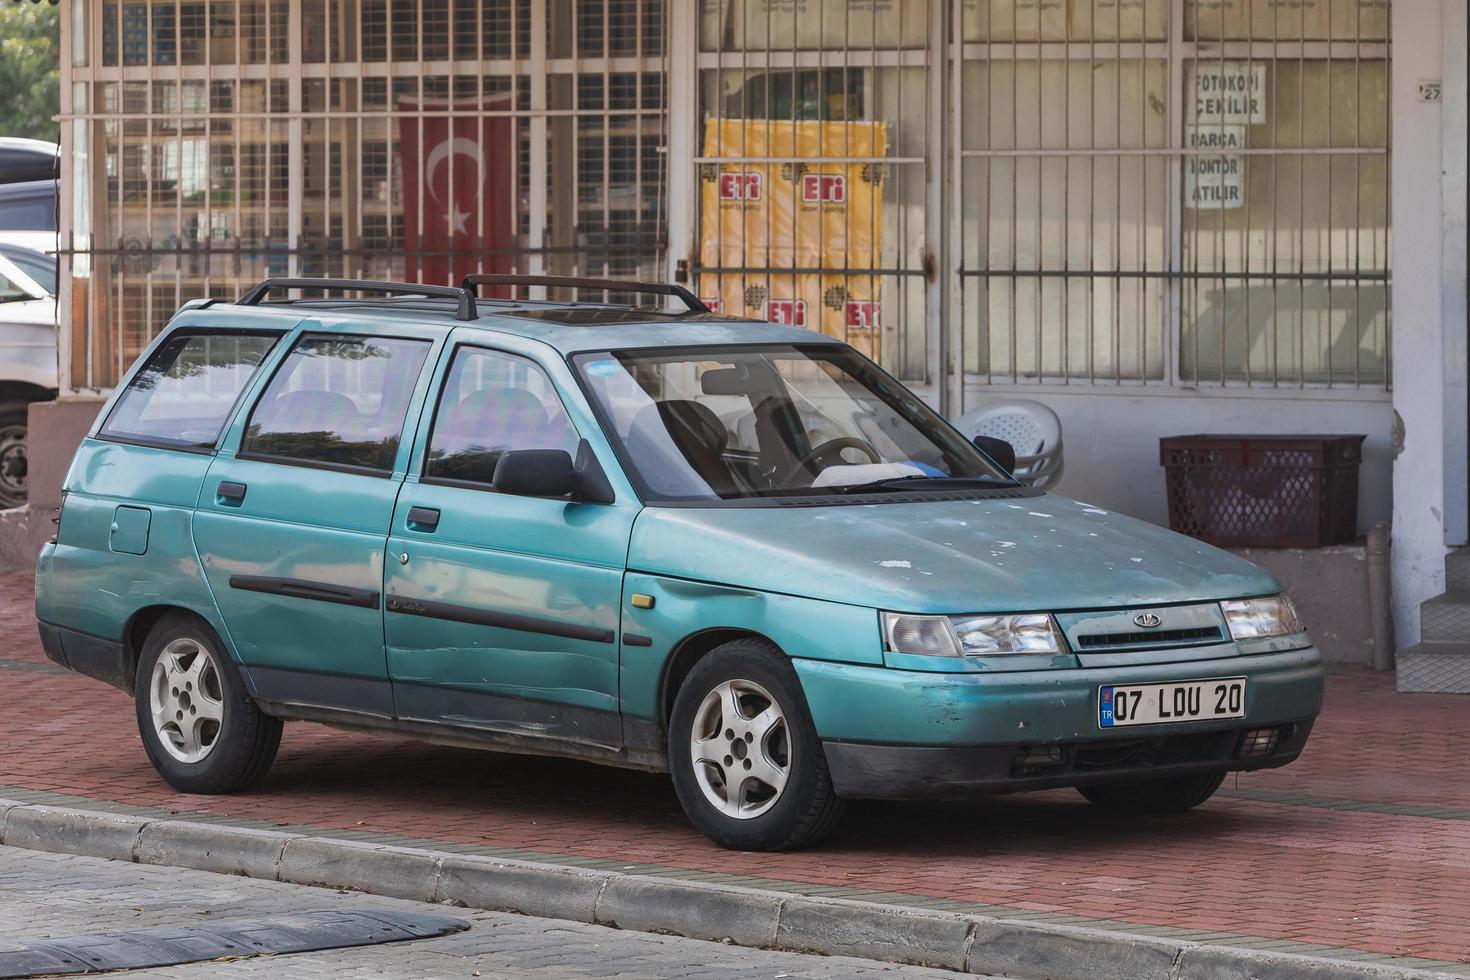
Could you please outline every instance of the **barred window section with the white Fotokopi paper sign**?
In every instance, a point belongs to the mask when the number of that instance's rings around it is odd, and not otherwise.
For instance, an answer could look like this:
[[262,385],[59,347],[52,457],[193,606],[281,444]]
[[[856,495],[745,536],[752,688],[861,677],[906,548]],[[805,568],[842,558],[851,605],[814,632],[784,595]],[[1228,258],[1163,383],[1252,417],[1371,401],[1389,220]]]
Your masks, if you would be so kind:
[[963,0],[964,370],[1386,388],[1388,0]]

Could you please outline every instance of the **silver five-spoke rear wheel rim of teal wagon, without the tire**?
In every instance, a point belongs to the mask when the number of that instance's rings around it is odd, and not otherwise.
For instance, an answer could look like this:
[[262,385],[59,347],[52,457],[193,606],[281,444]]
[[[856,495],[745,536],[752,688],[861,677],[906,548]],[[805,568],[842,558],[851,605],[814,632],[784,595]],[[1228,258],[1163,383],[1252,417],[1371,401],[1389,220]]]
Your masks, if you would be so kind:
[[219,666],[197,641],[175,639],[159,654],[148,685],[153,730],[181,763],[198,763],[215,749],[225,720]]

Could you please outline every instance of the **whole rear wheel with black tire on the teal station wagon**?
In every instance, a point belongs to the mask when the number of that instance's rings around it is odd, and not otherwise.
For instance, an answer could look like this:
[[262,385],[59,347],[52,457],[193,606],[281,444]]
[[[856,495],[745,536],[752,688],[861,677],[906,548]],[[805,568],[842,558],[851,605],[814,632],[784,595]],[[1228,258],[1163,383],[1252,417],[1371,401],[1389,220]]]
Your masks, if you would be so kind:
[[215,630],[194,616],[165,616],[148,632],[132,699],[148,760],[185,793],[245,789],[281,746],[281,720],[245,696]]

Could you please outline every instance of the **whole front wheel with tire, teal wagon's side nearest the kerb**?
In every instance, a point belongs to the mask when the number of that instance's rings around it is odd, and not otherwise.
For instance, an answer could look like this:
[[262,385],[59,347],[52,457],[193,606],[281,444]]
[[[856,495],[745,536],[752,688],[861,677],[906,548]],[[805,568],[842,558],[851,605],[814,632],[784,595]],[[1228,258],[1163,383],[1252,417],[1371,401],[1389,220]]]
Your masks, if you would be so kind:
[[797,671],[756,638],[720,644],[679,685],[669,770],[689,821],[723,848],[804,848],[842,813]]

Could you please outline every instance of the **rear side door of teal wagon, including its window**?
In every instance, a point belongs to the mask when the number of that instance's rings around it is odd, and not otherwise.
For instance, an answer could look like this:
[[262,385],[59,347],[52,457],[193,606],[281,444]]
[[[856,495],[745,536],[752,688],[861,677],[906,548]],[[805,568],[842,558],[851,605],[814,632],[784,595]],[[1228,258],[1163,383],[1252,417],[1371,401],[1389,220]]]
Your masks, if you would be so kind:
[[432,351],[303,323],[210,464],[194,541],[265,701],[392,716],[384,548]]

